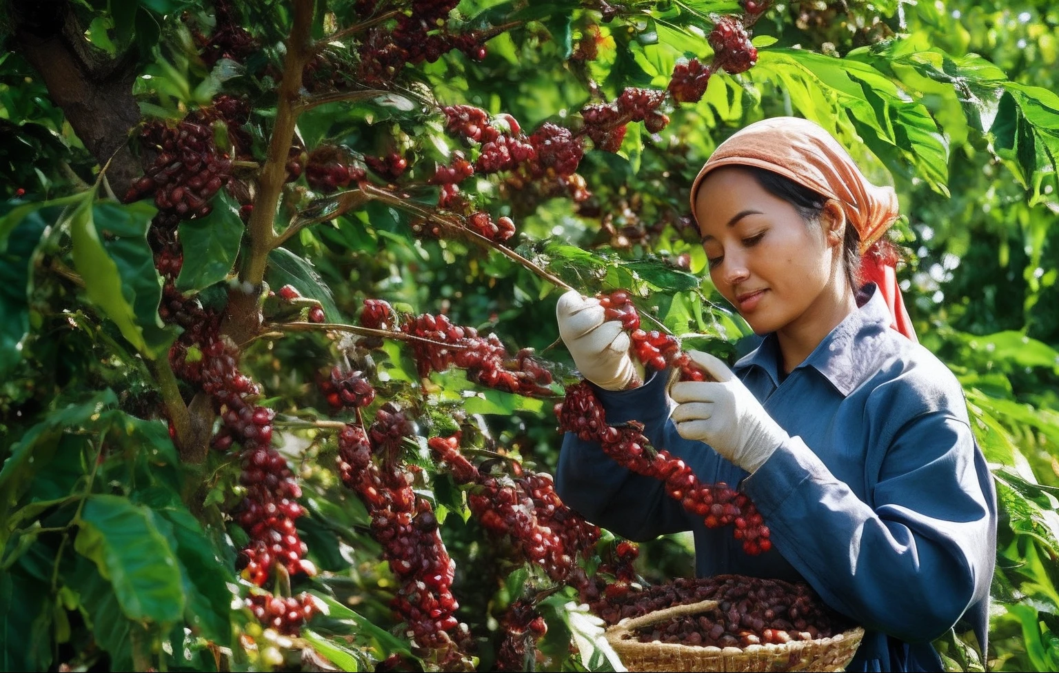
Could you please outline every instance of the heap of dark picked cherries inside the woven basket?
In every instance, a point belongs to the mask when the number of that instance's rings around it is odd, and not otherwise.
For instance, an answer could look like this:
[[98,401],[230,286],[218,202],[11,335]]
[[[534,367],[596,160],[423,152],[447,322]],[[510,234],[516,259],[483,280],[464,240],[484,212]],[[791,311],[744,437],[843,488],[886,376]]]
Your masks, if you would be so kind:
[[670,617],[639,630],[642,642],[746,648],[813,640],[841,633],[849,624],[805,583],[718,574],[680,578],[651,587],[611,585],[590,607],[606,623],[641,617],[675,605],[716,601],[695,615]]

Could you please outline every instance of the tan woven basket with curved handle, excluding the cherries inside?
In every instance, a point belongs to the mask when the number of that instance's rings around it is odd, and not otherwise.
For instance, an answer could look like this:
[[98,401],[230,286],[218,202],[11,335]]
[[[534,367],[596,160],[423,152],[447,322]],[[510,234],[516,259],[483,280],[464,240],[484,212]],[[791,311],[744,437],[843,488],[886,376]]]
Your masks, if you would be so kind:
[[701,601],[623,619],[607,630],[607,641],[630,671],[840,671],[854,658],[864,637],[864,630],[857,626],[830,638],[746,648],[640,642],[636,639],[636,628],[716,606],[716,601]]

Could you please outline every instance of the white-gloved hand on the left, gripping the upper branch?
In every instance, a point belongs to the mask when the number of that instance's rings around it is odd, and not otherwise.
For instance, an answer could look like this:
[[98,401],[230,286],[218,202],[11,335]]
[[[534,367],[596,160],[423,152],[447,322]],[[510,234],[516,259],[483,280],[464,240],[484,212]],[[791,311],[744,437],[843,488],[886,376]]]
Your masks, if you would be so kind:
[[577,370],[604,390],[625,390],[643,378],[629,357],[629,335],[620,320],[607,320],[599,300],[570,290],[555,306],[559,336]]

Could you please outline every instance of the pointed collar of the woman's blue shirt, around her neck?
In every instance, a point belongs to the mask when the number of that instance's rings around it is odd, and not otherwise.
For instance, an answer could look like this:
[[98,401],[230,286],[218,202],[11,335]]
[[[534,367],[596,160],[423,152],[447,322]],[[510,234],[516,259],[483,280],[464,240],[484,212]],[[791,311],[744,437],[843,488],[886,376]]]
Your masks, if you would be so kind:
[[[831,330],[809,357],[795,368],[812,367],[843,395],[856,390],[877,369],[876,358],[862,352],[855,354],[858,346],[865,339],[883,334],[890,329],[892,320],[886,301],[875,283],[864,285],[861,293],[867,300]],[[739,371],[751,367],[760,368],[774,386],[779,385],[779,343],[774,332],[766,335],[761,344],[736,362],[733,369]]]

